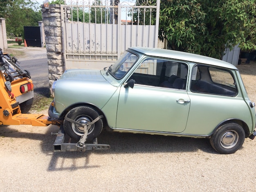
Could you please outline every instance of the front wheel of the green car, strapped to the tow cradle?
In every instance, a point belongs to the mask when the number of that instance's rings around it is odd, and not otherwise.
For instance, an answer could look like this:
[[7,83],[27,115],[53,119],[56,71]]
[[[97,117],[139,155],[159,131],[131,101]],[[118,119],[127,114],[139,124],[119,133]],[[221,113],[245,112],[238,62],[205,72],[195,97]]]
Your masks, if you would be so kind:
[[[90,123],[95,118],[99,116],[99,113],[92,109],[91,107],[80,106],[71,109],[67,112],[66,117],[70,118],[74,121],[79,123]],[[65,132],[71,137],[74,138],[76,141],[79,141],[81,136],[84,134],[84,130],[82,127],[75,123],[71,123],[70,121],[64,120],[63,127]],[[99,119],[97,122],[91,125],[90,129],[88,130],[87,140],[92,141],[94,138],[99,136],[103,128],[103,122]]]

